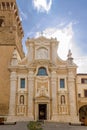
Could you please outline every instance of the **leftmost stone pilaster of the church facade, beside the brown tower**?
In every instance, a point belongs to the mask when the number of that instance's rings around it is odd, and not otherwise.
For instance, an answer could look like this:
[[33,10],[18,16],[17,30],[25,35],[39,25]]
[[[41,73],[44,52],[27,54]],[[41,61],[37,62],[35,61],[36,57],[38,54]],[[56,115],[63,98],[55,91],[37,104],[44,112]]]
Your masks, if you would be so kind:
[[11,72],[10,76],[10,103],[9,103],[9,116],[15,116],[16,109],[16,86],[17,75],[16,72]]

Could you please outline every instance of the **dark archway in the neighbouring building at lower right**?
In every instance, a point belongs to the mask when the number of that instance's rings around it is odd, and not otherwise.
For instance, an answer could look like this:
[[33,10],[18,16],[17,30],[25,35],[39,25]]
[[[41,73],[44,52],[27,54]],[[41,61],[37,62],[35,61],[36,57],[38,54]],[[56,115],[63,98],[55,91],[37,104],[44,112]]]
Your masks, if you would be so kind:
[[79,120],[85,122],[87,120],[87,105],[80,107],[79,109]]

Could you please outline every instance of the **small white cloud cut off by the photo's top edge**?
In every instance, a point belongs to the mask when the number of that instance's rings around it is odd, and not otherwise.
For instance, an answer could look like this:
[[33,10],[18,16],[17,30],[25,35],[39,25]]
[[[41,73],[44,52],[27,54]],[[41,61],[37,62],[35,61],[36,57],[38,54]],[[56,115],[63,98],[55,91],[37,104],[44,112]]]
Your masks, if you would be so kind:
[[33,6],[38,12],[49,12],[52,0],[33,0]]

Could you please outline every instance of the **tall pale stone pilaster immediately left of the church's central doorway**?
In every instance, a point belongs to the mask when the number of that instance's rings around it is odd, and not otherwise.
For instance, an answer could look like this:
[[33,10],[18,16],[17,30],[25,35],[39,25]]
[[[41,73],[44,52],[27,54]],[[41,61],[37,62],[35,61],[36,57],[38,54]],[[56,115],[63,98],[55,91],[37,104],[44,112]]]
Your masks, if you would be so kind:
[[34,120],[33,102],[34,102],[34,74],[29,71],[28,74],[28,116],[30,120]]

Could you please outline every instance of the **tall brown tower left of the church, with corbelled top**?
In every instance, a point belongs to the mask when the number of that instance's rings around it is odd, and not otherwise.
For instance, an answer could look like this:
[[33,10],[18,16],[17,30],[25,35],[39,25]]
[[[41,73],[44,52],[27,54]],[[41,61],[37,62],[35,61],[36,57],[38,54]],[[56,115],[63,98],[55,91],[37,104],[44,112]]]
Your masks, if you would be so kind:
[[24,57],[23,35],[16,0],[0,0],[0,115],[8,114],[10,95],[8,64],[14,48],[20,59]]

